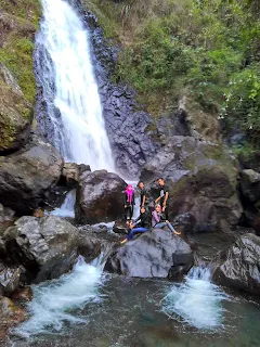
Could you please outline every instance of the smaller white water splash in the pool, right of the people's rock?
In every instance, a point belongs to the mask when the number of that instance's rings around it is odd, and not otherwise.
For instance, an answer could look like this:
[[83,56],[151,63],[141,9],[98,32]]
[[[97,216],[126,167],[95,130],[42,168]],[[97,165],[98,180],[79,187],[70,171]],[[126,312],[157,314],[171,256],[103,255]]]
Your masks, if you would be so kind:
[[180,285],[174,285],[162,299],[162,311],[170,318],[202,330],[222,326],[224,309],[222,301],[227,295],[210,282],[210,269],[195,267]]

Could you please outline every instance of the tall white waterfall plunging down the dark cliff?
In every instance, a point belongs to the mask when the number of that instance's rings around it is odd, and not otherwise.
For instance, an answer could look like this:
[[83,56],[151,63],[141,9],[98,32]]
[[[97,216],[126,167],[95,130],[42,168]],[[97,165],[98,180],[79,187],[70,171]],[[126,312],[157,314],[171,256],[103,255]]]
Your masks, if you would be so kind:
[[35,67],[54,146],[67,162],[114,171],[89,33],[67,2],[41,2],[43,20],[36,39]]

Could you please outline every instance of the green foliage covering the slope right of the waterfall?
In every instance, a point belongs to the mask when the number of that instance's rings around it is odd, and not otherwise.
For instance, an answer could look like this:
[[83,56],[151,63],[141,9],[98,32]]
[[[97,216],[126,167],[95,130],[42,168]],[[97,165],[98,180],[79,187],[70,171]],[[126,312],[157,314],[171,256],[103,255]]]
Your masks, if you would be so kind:
[[130,82],[150,112],[174,110],[188,93],[260,144],[259,1],[91,2],[106,8],[106,27],[116,23],[123,47],[117,80]]

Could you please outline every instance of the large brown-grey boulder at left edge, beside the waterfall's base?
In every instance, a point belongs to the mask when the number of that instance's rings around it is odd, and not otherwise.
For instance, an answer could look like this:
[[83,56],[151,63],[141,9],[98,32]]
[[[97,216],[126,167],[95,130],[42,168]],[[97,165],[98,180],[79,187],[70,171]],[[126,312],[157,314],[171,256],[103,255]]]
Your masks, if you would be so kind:
[[0,196],[20,215],[31,214],[62,172],[63,159],[49,143],[34,136],[18,152],[0,157]]

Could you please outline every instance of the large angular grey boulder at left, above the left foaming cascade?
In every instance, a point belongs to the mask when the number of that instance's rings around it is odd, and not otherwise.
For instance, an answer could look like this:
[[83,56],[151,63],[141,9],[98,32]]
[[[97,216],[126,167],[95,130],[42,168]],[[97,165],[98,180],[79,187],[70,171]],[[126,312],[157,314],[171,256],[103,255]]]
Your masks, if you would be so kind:
[[0,239],[1,256],[23,265],[28,281],[58,278],[77,258],[78,230],[60,217],[22,217]]

